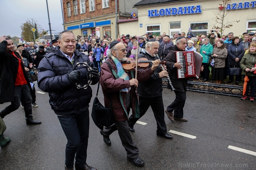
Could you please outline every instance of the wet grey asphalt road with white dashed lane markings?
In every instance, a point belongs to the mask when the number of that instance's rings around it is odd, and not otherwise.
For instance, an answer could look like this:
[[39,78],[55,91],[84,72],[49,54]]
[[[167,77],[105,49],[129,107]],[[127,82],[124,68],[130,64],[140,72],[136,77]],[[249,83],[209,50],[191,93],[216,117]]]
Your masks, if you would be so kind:
[[[97,85],[92,89],[91,103]],[[37,86],[36,90],[41,91]],[[64,169],[66,137],[48,103],[48,94],[36,95],[39,107],[33,107],[33,116],[42,124],[26,125],[23,108],[3,119],[7,126],[4,135],[11,142],[0,149],[0,170]],[[102,93],[98,97],[103,103]],[[163,89],[165,107],[174,98],[174,92]],[[139,120],[142,123],[135,124],[135,132],[131,132],[145,161],[145,166],[140,168],[126,160],[118,133],[111,134],[112,144],[107,146],[90,118],[87,163],[98,170],[255,170],[255,104],[237,97],[188,92],[184,107],[188,122],[171,122],[165,116],[172,140],[156,136],[156,121],[149,109]],[[1,104],[0,109],[8,105]]]

